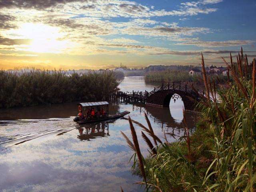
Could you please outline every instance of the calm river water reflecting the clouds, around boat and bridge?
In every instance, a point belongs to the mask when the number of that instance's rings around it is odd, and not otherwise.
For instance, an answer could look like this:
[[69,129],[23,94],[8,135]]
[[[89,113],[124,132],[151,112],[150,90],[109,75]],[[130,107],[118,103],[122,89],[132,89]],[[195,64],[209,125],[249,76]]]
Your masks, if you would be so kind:
[[[142,77],[125,78],[120,84],[128,92],[153,88]],[[178,96],[175,100],[170,109],[112,103],[110,114],[128,110],[132,119],[146,125],[146,112],[156,135],[162,138],[165,130],[178,136],[184,134],[183,102]],[[133,184],[140,178],[130,171],[132,151],[120,134],[131,138],[128,121],[78,126],[73,122],[77,113],[76,103],[0,110],[0,191],[115,192],[120,186],[125,192],[143,191]],[[186,118],[194,128],[194,115]],[[136,130],[146,156],[141,129]]]

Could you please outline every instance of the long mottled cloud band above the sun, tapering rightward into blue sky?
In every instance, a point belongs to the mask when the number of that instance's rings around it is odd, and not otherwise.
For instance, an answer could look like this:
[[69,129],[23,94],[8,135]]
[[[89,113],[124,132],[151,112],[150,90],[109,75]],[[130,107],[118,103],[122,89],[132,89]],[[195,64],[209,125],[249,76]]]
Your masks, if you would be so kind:
[[[185,36],[209,33],[209,28],[179,27],[178,23],[157,22],[150,19],[136,18],[128,22],[110,22],[100,18],[38,18],[37,21],[58,26],[61,31],[67,32],[64,38],[81,42],[85,38],[107,35],[140,35],[146,37],[164,37],[169,40],[185,39]],[[162,25],[157,25],[162,24]],[[181,38],[181,36],[183,36]],[[102,39],[101,39],[102,40]]]

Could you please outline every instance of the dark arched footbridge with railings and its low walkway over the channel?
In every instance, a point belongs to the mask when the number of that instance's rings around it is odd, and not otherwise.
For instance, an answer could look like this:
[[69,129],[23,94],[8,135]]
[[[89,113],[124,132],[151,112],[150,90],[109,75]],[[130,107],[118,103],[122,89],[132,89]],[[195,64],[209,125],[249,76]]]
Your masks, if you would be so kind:
[[[184,110],[194,110],[196,101],[200,100],[199,94],[184,83],[162,84],[151,92],[132,92],[132,94],[119,92],[118,94],[124,100],[140,101],[156,107],[169,107],[172,96],[178,94],[184,103]],[[202,95],[204,95],[203,92]]]

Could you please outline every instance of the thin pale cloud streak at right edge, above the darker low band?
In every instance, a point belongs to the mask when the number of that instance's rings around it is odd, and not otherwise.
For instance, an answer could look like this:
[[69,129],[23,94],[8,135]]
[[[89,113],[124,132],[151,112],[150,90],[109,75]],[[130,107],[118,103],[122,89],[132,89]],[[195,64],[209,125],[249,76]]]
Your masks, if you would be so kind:
[[230,41],[193,41],[182,42],[177,45],[194,45],[198,47],[232,47],[253,44],[252,40],[230,40]]

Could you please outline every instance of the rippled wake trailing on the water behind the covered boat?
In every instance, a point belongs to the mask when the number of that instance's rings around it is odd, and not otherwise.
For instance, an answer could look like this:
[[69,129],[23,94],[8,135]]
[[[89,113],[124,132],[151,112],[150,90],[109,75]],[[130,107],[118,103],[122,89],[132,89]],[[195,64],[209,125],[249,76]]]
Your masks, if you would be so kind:
[[0,150],[43,136],[62,135],[76,128],[72,117],[0,120]]

